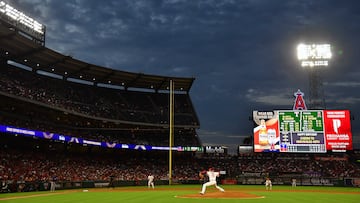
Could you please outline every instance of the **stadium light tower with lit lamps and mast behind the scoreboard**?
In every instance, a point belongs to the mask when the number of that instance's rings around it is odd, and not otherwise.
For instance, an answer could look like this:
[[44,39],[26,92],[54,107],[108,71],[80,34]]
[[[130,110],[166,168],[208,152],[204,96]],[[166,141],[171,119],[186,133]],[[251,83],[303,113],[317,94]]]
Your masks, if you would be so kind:
[[324,90],[319,70],[329,65],[332,57],[330,44],[299,44],[297,57],[301,66],[309,72],[309,108],[325,109]]

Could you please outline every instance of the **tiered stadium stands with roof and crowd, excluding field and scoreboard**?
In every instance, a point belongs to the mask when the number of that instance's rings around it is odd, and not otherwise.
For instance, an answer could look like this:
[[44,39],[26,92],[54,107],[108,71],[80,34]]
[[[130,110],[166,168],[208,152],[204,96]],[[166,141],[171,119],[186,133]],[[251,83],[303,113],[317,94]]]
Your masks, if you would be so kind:
[[230,156],[206,147],[203,153],[189,94],[194,78],[119,71],[63,55],[45,47],[45,27],[29,32],[5,7],[1,2],[1,192],[49,190],[51,182],[57,189],[145,186],[149,174],[166,184],[170,81],[176,183],[199,184],[198,172],[211,166],[223,184],[271,177],[274,185],[294,178],[298,185],[360,185],[358,151]]

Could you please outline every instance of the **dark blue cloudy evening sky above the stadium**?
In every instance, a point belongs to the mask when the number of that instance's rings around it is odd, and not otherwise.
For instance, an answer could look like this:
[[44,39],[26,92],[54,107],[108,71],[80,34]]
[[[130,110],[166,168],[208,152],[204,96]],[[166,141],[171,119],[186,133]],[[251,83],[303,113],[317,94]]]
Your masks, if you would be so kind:
[[360,1],[8,0],[46,26],[45,46],[123,71],[195,77],[190,91],[203,144],[234,149],[253,110],[309,98],[296,46],[329,43],[321,67],[327,109],[349,109],[360,148]]

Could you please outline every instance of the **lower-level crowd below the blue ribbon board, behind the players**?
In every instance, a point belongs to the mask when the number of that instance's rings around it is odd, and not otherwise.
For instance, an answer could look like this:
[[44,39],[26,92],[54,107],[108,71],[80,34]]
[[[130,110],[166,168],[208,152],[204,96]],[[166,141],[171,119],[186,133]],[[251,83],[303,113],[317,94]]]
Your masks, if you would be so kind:
[[[2,134],[0,179],[9,182],[59,182],[168,180],[167,152],[131,151],[74,146],[33,138]],[[322,155],[330,157],[333,155]],[[214,167],[236,179],[247,173],[277,177],[287,173],[308,177],[359,177],[360,168],[348,156],[318,159],[308,154],[259,154],[246,156],[196,155],[176,152],[173,160],[174,181],[198,180],[198,172]]]

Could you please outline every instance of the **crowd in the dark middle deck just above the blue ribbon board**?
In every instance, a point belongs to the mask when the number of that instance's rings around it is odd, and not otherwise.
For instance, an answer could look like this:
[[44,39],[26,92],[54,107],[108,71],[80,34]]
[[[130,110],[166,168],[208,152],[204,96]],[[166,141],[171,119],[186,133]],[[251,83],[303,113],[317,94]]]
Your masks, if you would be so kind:
[[[169,128],[133,126],[102,122],[81,116],[66,115],[20,101],[1,97],[0,124],[57,133],[94,141],[123,144],[168,146]],[[193,128],[175,128],[174,144],[177,146],[199,146],[199,139]]]

